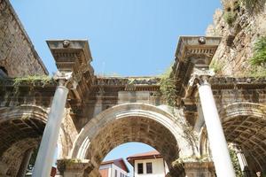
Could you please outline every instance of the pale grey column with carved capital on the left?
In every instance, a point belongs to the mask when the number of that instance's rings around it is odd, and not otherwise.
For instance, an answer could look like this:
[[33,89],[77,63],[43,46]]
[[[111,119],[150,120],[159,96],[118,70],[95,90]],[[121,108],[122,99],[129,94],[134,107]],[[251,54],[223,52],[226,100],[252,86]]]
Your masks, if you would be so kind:
[[54,94],[48,121],[43,132],[42,142],[35,161],[33,177],[48,177],[51,173],[51,165],[54,159],[56,145],[59,138],[59,129],[65,111],[68,89],[66,84],[72,77],[72,73],[60,73],[59,86]]

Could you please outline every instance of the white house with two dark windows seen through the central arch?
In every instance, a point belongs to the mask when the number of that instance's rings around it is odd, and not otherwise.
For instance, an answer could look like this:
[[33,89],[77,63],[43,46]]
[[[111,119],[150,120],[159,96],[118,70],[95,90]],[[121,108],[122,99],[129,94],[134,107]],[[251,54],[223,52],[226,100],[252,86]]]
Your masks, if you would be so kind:
[[134,177],[165,177],[168,165],[157,150],[135,154],[127,158],[134,168]]

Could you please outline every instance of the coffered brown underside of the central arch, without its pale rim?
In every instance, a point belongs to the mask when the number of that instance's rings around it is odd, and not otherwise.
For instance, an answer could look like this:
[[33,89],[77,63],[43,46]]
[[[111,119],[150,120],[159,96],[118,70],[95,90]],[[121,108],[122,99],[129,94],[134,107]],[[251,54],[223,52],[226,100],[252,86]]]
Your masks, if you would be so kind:
[[170,165],[178,158],[178,145],[172,133],[153,119],[127,117],[102,127],[90,142],[85,158],[99,166],[107,153],[126,142],[143,142],[158,150]]

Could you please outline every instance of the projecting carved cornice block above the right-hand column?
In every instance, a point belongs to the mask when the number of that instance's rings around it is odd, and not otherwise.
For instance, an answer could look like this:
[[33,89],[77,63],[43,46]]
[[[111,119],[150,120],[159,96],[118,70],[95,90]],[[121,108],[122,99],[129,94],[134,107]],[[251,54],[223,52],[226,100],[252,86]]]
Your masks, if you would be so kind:
[[220,37],[181,36],[176,49],[171,77],[176,81],[176,93],[182,98],[195,68],[208,69]]

